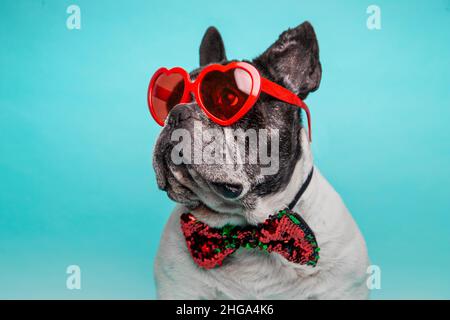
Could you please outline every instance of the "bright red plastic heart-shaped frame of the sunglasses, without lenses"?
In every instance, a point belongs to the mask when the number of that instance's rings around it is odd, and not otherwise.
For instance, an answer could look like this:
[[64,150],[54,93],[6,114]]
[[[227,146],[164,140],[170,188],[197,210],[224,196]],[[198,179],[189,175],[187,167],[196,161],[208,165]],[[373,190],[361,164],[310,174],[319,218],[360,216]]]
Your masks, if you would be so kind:
[[[247,101],[244,103],[244,105],[241,107],[241,109],[233,115],[230,119],[223,120],[218,117],[216,117],[214,114],[208,111],[207,107],[205,107],[205,104],[202,101],[200,89],[202,85],[203,78],[212,71],[220,71],[220,72],[226,72],[230,69],[243,69],[246,71],[250,77],[252,78],[252,88],[250,90],[250,93],[248,94]],[[182,103],[189,103],[192,101],[191,93],[194,94],[195,101],[199,105],[199,107],[202,109],[202,111],[213,120],[215,123],[221,125],[221,126],[230,126],[233,123],[239,121],[258,101],[259,95],[261,92],[264,92],[280,101],[286,102],[291,105],[295,105],[301,109],[303,109],[306,113],[306,116],[308,118],[308,134],[309,134],[309,140],[311,141],[311,115],[309,112],[308,106],[292,91],[276,84],[275,82],[272,82],[264,77],[262,77],[259,73],[259,71],[252,66],[249,63],[246,62],[231,62],[226,65],[221,64],[210,64],[206,66],[198,75],[198,77],[191,81],[191,78],[189,76],[189,73],[181,68],[181,67],[174,67],[171,69],[167,69],[165,67],[159,68],[152,76],[148,91],[147,91],[147,103],[150,110],[150,113],[153,117],[153,119],[160,125],[164,126],[164,121],[161,121],[161,119],[158,118],[156,111],[154,109],[153,103],[152,103],[152,91],[153,87],[155,85],[156,80],[162,75],[171,75],[171,74],[178,74],[183,77],[184,81],[184,92],[180,99],[180,102],[178,104]]]

